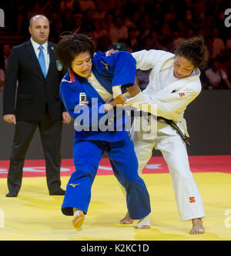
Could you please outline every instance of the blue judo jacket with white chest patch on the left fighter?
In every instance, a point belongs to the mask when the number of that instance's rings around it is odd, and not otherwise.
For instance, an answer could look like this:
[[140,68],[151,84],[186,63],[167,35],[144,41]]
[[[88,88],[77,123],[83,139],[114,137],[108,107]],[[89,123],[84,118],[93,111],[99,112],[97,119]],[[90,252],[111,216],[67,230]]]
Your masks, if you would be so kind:
[[[112,94],[112,86],[132,86],[136,79],[136,59],[129,52],[115,52],[110,56],[95,52],[92,72],[99,83]],[[127,136],[128,120],[122,109],[105,113],[105,101],[87,79],[66,73],[60,84],[60,97],[75,123],[75,140],[119,141]],[[113,120],[113,122],[112,122]],[[103,128],[103,129],[102,129]]]

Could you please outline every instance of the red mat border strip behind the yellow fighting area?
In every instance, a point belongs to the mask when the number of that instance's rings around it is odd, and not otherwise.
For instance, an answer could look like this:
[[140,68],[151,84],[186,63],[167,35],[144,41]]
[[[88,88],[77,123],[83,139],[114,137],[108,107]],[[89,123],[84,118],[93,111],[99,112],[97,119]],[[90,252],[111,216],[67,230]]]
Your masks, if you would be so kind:
[[[231,173],[231,155],[229,156],[191,156],[189,164],[192,173]],[[7,177],[9,161],[0,161],[0,178]],[[31,171],[30,171],[31,170]],[[75,171],[72,159],[62,160],[61,176],[67,177]],[[143,173],[169,173],[163,157],[152,157]],[[112,175],[108,158],[102,158],[97,175]],[[23,177],[45,177],[45,160],[25,160]]]

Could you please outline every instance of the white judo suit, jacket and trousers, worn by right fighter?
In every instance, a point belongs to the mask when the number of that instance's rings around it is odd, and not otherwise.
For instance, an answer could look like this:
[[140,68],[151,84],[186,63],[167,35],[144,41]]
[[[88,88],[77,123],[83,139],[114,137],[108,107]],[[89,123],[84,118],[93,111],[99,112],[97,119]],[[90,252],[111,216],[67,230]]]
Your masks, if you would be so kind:
[[[133,52],[132,56],[136,59],[136,69],[152,69],[152,71],[146,89],[128,98],[126,104],[152,113],[153,116],[173,120],[182,133],[189,136],[183,115],[186,107],[201,91],[199,69],[194,69],[186,78],[176,79],[173,76],[175,56],[171,52],[142,50]],[[153,108],[148,111],[143,110],[145,105]],[[158,121],[156,129],[153,129],[155,134],[151,132],[151,137],[147,140],[147,136],[144,137],[144,133],[137,127],[140,126],[140,118],[147,117],[136,116],[131,131],[139,161],[139,174],[141,175],[146,163],[152,157],[152,149],[160,150],[172,177],[181,221],[205,217],[202,199],[189,167],[186,144],[181,136],[164,121]],[[153,135],[155,135],[154,138]]]

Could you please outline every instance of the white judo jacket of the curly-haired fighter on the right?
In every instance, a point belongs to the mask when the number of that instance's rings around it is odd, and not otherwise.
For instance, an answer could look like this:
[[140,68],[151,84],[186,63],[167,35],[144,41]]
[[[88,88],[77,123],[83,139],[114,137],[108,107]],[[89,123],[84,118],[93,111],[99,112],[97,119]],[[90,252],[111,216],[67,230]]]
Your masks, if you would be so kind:
[[[141,109],[139,104],[156,105],[157,116],[173,120],[182,132],[189,136],[183,115],[186,106],[201,92],[199,69],[194,69],[195,76],[179,79],[162,89],[159,83],[159,72],[172,68],[175,55],[171,52],[152,49],[133,52],[132,56],[136,59],[136,69],[152,69],[152,71],[146,89],[135,97],[127,99],[126,103],[139,109]],[[156,111],[152,114],[156,116]]]

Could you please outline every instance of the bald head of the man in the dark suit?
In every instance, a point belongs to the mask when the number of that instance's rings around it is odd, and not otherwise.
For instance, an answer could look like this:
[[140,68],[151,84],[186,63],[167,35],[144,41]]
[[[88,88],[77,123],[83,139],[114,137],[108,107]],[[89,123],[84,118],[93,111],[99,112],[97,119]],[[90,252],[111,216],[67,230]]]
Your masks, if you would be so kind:
[[29,32],[32,39],[43,45],[49,38],[49,19],[44,15],[35,15],[30,19]]

